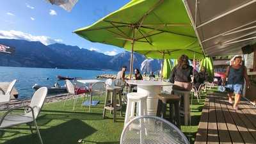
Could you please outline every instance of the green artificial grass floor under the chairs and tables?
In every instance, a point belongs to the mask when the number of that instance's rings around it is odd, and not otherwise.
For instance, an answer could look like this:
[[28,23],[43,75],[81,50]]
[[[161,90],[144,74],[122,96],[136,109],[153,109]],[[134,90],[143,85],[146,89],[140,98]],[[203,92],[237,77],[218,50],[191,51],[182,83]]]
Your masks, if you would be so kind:
[[[37,119],[44,143],[75,144],[79,139],[83,139],[82,143],[119,143],[125,112],[123,110],[123,116],[120,116],[118,111],[115,123],[109,111],[106,113],[106,118],[102,119],[103,101],[101,99],[98,106],[92,107],[90,113],[88,107],[81,107],[81,99],[78,100],[75,111],[72,111],[73,100],[68,100],[65,107],[63,101],[45,104]],[[181,125],[182,132],[191,143],[195,140],[203,106],[204,96],[199,103],[196,99],[193,100],[191,126]],[[1,130],[0,143],[35,144],[40,141],[35,132],[31,135],[28,125],[20,125]]]

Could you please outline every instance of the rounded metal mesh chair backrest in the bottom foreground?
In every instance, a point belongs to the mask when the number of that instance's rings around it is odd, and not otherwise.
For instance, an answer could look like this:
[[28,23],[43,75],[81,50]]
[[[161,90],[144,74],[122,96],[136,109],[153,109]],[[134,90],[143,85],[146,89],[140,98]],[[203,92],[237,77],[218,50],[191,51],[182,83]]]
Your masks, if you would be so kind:
[[120,144],[189,143],[175,125],[157,116],[138,116],[124,128]]

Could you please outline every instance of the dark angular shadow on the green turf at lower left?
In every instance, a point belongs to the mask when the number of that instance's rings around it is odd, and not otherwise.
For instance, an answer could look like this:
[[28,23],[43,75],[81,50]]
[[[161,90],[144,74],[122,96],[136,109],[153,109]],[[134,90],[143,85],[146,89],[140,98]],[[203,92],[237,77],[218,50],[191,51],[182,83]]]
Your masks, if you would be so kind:
[[[12,129],[12,128],[10,128]],[[81,120],[73,119],[63,124],[51,127],[49,129],[40,130],[42,140],[47,144],[77,144],[79,139],[84,139],[90,136],[96,129],[93,129],[88,124],[85,124]],[[4,144],[35,144],[40,143],[37,134],[20,136],[19,138],[13,138],[12,140],[5,141]]]

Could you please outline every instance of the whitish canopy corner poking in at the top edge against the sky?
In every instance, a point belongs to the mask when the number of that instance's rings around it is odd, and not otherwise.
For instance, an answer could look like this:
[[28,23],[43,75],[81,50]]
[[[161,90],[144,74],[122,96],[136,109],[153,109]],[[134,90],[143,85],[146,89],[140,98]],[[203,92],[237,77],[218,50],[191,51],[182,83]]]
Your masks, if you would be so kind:
[[60,6],[64,10],[67,10],[68,12],[70,12],[78,0],[46,0],[46,1],[48,1],[51,4]]

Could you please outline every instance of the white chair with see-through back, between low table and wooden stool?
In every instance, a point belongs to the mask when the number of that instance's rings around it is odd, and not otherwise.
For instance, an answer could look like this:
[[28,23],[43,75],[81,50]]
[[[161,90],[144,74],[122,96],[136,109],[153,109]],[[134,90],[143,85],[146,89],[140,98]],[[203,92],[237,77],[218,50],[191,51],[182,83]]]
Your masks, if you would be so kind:
[[89,112],[92,106],[92,100],[93,95],[98,95],[102,97],[106,90],[106,84],[102,81],[96,82],[92,84],[91,90],[90,90],[90,101],[89,101]]

